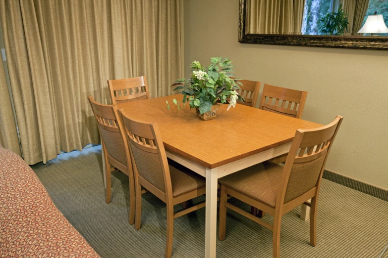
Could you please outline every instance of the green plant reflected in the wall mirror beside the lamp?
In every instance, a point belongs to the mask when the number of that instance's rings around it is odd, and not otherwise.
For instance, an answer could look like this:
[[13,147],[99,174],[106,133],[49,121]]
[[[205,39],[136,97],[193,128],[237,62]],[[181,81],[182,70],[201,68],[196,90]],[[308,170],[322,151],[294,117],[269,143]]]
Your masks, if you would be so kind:
[[342,3],[337,12],[330,12],[320,19],[323,25],[319,28],[320,33],[328,35],[342,35],[347,30],[348,14],[343,11]]

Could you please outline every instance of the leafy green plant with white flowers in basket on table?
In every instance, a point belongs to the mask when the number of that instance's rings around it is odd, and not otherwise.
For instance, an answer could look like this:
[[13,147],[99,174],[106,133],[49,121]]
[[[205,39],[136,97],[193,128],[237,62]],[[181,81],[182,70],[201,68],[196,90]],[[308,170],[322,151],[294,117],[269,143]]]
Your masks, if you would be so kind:
[[[229,100],[229,106],[235,107],[236,101],[243,101],[244,98],[238,95],[236,89],[242,85],[238,79],[231,79],[233,65],[229,58],[212,57],[212,64],[203,67],[200,62],[194,61],[190,68],[192,76],[190,79],[179,79],[172,86],[174,90],[181,90],[183,94],[183,106],[189,103],[190,108],[195,108],[197,116],[202,120],[210,120],[216,117],[217,110]],[[167,102],[167,108],[169,104]],[[173,100],[180,109],[180,102]]]

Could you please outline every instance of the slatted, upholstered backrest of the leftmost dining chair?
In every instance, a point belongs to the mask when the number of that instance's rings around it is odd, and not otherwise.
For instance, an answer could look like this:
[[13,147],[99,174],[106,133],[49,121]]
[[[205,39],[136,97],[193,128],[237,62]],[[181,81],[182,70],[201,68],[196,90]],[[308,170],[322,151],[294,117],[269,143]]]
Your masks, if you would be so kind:
[[102,144],[105,146],[108,158],[110,160],[113,158],[119,164],[114,161],[110,161],[110,163],[126,173],[128,169],[131,170],[130,155],[124,139],[124,133],[121,131],[123,128],[121,121],[118,120],[117,107],[115,105],[98,103],[92,96],[89,96],[88,99],[96,118]]

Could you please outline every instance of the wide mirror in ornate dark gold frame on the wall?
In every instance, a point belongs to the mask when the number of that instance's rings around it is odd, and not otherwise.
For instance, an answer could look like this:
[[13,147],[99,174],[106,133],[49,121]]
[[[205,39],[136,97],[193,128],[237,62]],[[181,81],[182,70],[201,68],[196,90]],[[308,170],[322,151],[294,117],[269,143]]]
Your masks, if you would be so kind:
[[240,0],[238,41],[388,49],[387,25],[388,0]]

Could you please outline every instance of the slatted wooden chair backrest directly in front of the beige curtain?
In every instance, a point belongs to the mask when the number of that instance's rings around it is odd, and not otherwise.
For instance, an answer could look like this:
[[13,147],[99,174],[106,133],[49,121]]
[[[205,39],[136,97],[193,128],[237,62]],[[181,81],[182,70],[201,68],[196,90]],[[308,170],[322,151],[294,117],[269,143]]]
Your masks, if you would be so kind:
[[108,86],[112,104],[150,98],[146,76],[108,80]]

